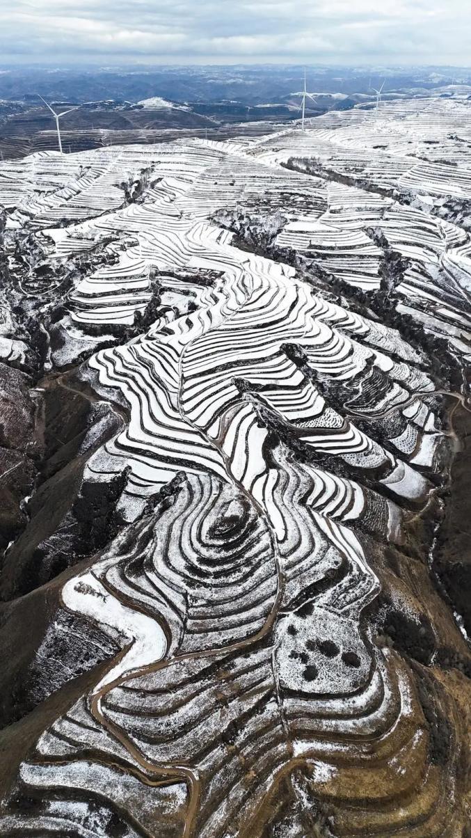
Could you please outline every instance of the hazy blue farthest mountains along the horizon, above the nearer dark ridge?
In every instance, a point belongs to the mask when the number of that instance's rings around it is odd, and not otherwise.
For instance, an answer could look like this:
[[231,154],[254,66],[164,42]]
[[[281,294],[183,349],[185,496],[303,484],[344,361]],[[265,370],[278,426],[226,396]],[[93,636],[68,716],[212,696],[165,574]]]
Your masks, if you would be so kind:
[[[0,99],[31,100],[36,93],[67,101],[137,102],[153,96],[177,102],[241,101],[260,105],[284,101],[303,86],[303,67],[292,65],[206,67],[0,67]],[[471,82],[471,69],[426,67],[307,67],[308,89],[318,93],[368,93]]]

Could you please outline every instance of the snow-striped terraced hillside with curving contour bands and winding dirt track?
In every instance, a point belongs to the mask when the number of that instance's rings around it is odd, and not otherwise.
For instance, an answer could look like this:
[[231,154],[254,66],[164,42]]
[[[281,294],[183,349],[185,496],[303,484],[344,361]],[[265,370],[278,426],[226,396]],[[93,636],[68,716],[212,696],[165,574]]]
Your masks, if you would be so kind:
[[[389,106],[397,132],[403,106]],[[428,119],[437,104],[420,106]],[[237,206],[269,225],[280,209],[277,246],[360,287],[378,287],[383,254],[365,230],[380,226],[411,260],[398,292],[413,288],[410,308],[463,360],[468,234],[281,165],[329,159],[340,170],[344,155],[344,168],[355,159],[384,181],[387,158],[391,182],[438,189],[440,163],[417,167],[396,148],[361,158],[355,142],[370,137],[365,126],[380,130],[373,118],[329,114],[266,141],[40,153],[0,170],[10,229],[32,218],[51,261],[112,237],[116,259],[70,292],[65,334],[131,323],[151,297],[150,268],[162,292],[146,334],[82,370],[127,411],[84,474],[107,483],[129,467],[124,525],[61,597],[122,651],[40,735],[1,835],[468,835],[464,675],[392,649],[376,619],[385,587],[406,632],[419,631],[432,590],[407,528],[433,502],[452,440],[426,352],[211,220]],[[116,184],[144,170],[142,201],[122,206]],[[454,182],[467,178],[459,169]],[[392,583],[386,549],[400,566]],[[464,660],[449,609],[428,618],[437,645],[446,634]]]

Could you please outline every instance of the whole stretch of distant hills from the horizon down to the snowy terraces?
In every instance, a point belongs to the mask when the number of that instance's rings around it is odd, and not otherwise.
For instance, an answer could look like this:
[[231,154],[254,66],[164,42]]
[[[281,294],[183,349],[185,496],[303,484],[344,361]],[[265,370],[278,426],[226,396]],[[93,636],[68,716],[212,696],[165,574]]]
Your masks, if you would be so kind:
[[[0,71],[0,156],[23,158],[58,147],[58,111],[65,152],[112,144],[167,142],[195,136],[224,140],[261,136],[300,116],[299,66],[160,68],[4,68]],[[471,96],[471,70],[309,67],[307,116],[375,107],[376,89],[391,101]]]

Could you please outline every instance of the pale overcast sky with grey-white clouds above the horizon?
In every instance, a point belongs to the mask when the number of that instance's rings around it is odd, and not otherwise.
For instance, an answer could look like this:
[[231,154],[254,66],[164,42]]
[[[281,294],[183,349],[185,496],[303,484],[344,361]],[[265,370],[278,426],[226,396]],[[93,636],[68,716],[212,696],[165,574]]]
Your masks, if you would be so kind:
[[0,0],[14,63],[470,65],[471,0]]

